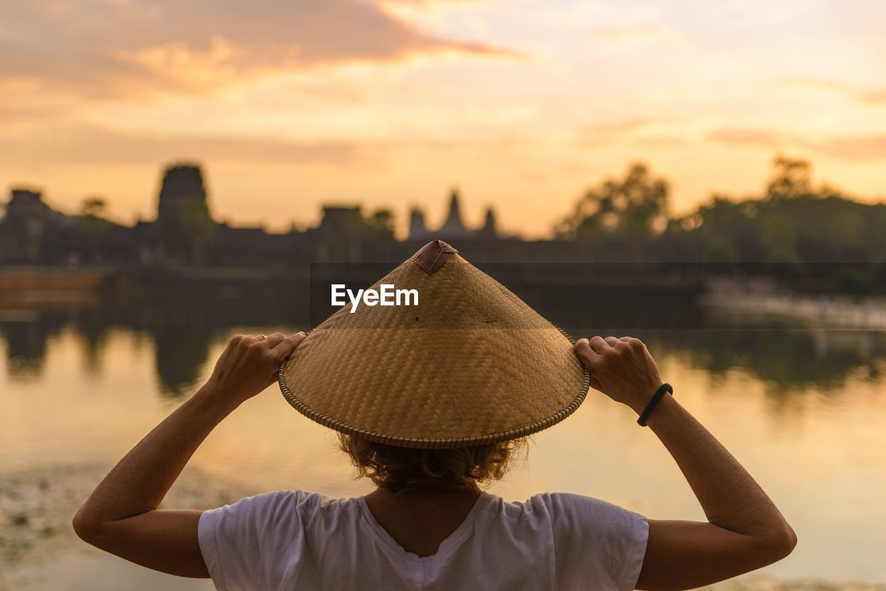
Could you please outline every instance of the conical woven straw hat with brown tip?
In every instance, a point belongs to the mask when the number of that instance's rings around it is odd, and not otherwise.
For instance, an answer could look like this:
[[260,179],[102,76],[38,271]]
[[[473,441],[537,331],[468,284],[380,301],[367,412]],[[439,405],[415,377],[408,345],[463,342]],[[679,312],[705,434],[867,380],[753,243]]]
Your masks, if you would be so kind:
[[348,303],[280,364],[284,397],[339,432],[400,447],[516,439],[579,408],[590,377],[572,339],[440,240],[372,289],[415,306]]

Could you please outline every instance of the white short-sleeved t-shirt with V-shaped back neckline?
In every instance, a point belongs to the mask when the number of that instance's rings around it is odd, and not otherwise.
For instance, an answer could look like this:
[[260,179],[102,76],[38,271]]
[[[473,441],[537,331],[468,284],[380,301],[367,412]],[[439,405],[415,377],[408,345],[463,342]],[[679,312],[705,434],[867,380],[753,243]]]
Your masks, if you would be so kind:
[[633,589],[649,524],[579,494],[506,502],[482,493],[436,554],[404,550],[362,497],[258,494],[200,517],[200,550],[221,591]]

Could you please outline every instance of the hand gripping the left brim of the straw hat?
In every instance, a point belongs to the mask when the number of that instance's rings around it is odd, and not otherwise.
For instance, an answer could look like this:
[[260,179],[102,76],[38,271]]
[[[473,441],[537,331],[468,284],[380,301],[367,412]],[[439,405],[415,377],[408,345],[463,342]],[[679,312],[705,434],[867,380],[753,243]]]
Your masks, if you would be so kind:
[[237,404],[249,400],[276,382],[277,368],[305,338],[304,332],[284,337],[282,332],[234,335],[215,362],[206,385]]

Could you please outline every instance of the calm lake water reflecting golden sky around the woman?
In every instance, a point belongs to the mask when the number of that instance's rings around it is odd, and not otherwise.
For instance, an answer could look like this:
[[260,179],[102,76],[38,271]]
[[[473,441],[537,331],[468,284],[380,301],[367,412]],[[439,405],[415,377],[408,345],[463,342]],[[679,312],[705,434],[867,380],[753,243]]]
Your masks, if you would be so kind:
[[[212,588],[90,550],[70,532],[70,517],[97,478],[203,383],[231,335],[305,328],[233,316],[0,316],[0,589]],[[567,330],[642,338],[681,404],[770,494],[799,543],[765,574],[886,582],[886,333],[617,322],[583,319],[572,326],[597,330]],[[635,419],[592,390],[563,424],[535,435],[525,465],[489,490],[512,500],[587,494],[648,517],[703,520],[680,470]],[[278,488],[369,492],[334,439],[268,388],[198,449],[188,473],[202,484],[187,502],[209,509]]]

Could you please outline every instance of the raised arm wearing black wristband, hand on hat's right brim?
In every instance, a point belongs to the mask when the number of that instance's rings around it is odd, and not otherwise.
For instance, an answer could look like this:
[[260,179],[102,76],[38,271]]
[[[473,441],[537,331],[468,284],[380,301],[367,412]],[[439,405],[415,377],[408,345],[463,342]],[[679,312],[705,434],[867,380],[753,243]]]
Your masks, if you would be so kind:
[[[575,350],[591,371],[591,385],[638,415],[663,384],[637,338],[581,338]],[[797,536],[781,512],[677,400],[665,393],[647,424],[677,462],[708,521],[649,519],[638,589],[702,587],[790,554]]]

